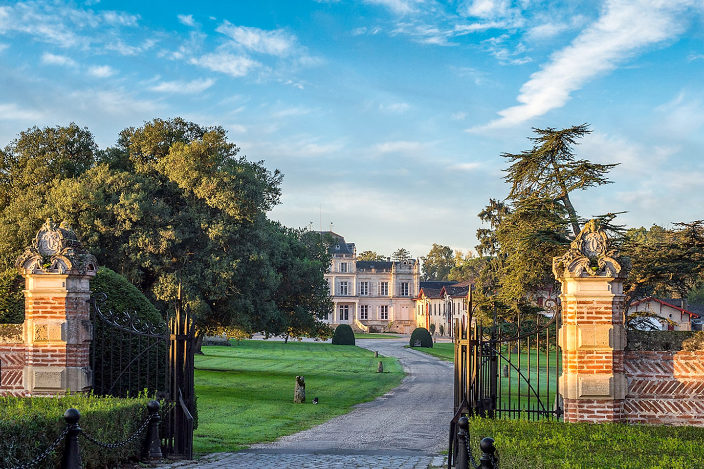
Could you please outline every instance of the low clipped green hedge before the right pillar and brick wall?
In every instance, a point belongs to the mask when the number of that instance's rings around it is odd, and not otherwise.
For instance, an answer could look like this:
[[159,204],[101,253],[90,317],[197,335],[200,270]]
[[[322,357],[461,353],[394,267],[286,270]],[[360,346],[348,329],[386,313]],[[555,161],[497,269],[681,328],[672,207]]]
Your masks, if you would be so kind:
[[704,428],[472,418],[470,435],[475,456],[496,440],[502,468],[704,468]]

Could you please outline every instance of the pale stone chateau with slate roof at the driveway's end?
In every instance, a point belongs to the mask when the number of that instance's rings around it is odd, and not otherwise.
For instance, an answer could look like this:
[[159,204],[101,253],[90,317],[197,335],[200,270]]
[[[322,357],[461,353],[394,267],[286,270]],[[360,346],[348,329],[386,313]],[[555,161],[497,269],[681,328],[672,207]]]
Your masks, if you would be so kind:
[[418,260],[358,261],[354,243],[329,234],[335,244],[325,278],[335,309],[324,320],[363,332],[410,333],[416,326],[414,299],[420,292]]

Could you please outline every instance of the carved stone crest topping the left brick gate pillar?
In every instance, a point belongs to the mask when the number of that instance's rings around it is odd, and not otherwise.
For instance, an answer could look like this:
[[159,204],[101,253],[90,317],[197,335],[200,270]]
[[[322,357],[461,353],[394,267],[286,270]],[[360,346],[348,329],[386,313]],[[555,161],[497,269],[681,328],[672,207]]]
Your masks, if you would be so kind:
[[68,223],[57,226],[47,218],[32,245],[25,248],[15,267],[22,274],[86,274],[95,273],[98,262],[86,252]]

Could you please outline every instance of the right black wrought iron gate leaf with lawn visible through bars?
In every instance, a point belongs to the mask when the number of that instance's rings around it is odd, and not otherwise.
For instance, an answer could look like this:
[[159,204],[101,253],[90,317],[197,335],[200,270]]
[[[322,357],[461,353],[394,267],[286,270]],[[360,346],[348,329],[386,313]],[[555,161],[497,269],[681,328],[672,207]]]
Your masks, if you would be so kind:
[[518,316],[516,322],[502,322],[494,308],[491,326],[472,321],[471,315],[467,325],[455,321],[451,456],[456,425],[463,415],[529,420],[562,416],[560,308],[555,300],[548,300],[544,309],[529,317]]

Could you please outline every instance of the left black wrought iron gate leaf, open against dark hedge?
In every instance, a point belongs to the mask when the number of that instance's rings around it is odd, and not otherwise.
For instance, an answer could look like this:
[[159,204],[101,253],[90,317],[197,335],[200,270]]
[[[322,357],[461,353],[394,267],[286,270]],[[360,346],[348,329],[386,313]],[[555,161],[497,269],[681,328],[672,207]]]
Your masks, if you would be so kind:
[[[167,322],[146,323],[136,312],[101,310],[107,296],[91,297],[93,392],[164,399],[161,446],[170,458],[193,456],[194,330],[189,307],[176,300]],[[103,308],[104,309],[104,308]]]

